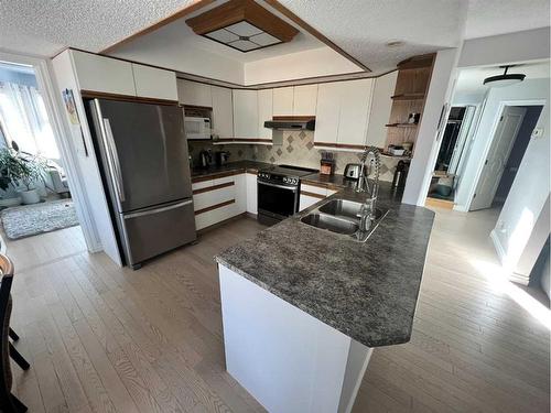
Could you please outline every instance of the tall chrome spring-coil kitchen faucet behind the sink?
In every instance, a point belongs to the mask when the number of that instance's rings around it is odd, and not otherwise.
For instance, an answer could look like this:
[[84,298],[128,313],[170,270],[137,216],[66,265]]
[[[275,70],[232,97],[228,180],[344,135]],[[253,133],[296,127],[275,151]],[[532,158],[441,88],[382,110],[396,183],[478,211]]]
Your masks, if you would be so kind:
[[[367,181],[368,173],[367,169],[367,159],[369,155],[374,156],[375,163],[375,178],[369,188],[369,182]],[[360,219],[359,226],[363,231],[367,231],[371,225],[371,220],[375,219],[376,214],[376,203],[377,195],[379,193],[379,171],[380,171],[380,151],[376,146],[366,146],[364,150],[364,154],[361,155],[361,167],[359,170],[359,180],[356,184],[357,193],[369,193],[369,196],[366,197],[365,203],[361,205],[361,209],[358,213],[358,218]]]

